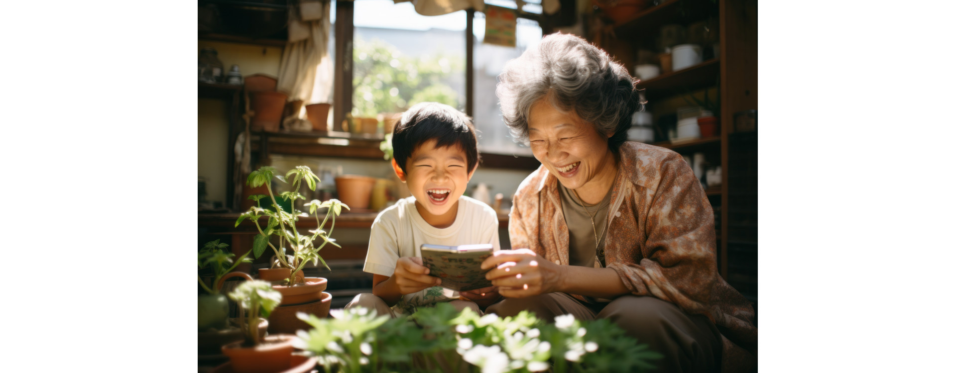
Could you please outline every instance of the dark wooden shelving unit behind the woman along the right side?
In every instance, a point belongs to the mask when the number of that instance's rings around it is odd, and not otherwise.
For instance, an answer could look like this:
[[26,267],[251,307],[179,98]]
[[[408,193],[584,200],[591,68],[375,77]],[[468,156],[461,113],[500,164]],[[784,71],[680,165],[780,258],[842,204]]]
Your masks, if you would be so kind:
[[[720,229],[717,232],[718,241],[718,264],[721,275],[728,280],[742,280],[752,278],[755,273],[756,259],[756,237],[743,237],[749,235],[747,232],[755,232],[755,226],[752,229],[740,229],[734,225],[737,218],[728,215],[730,206],[734,206],[741,211],[740,207],[755,206],[756,193],[740,194],[741,191],[734,190],[733,185],[750,185],[747,180],[751,176],[738,175],[744,177],[744,180],[734,178],[732,174],[735,170],[750,170],[751,163],[755,164],[755,152],[741,155],[741,152],[733,152],[730,136],[733,134],[733,114],[746,110],[757,108],[757,84],[756,84],[756,1],[755,0],[720,0],[714,2],[711,0],[668,0],[662,4],[651,7],[634,14],[628,19],[614,24],[611,39],[593,40],[599,41],[601,45],[608,49],[608,52],[638,51],[647,49],[649,45],[656,45],[655,39],[660,35],[660,29],[663,25],[679,24],[684,27],[691,23],[704,21],[707,19],[716,19],[719,23],[719,51],[715,52],[718,57],[708,59],[695,66],[663,73],[652,79],[647,79],[638,83],[638,87],[644,90],[644,97],[647,98],[648,111],[654,114],[655,104],[665,102],[670,98],[689,95],[692,92],[699,92],[703,89],[717,88],[720,93],[720,121],[721,133],[717,136],[700,138],[689,142],[673,144],[670,142],[655,143],[652,145],[674,150],[675,152],[687,155],[696,152],[706,153],[707,160],[712,164],[718,161],[722,167],[721,185],[715,188],[706,189],[706,195],[714,206],[715,210],[720,209],[718,219]],[[624,47],[621,47],[621,45]],[[626,47],[626,48],[625,48]],[[633,56],[623,55],[620,61],[633,60]],[[628,70],[633,70],[633,66],[625,66]],[[673,109],[669,109],[673,110]],[[670,112],[673,113],[673,112]],[[754,136],[755,137],[755,136]],[[734,156],[734,165],[737,167],[728,167],[728,159]],[[752,157],[749,158],[748,156]],[[743,159],[743,160],[742,160]],[[744,163],[740,163],[744,162]],[[745,166],[741,168],[741,166]],[[728,177],[734,182],[728,183]],[[755,174],[754,176],[755,177]],[[755,185],[755,183],[754,183]],[[733,203],[731,203],[731,198]],[[752,203],[751,203],[752,202]],[[755,209],[755,207],[754,207]],[[754,212],[755,217],[755,212]],[[731,231],[731,227],[734,230]],[[728,242],[734,242],[733,253],[728,252]],[[746,250],[738,249],[737,243],[750,242],[752,247]],[[729,256],[733,256],[730,258]],[[732,263],[728,265],[728,263]],[[753,264],[754,267],[749,266]],[[750,272],[750,271],[753,272]],[[750,284],[753,286],[750,286]],[[734,285],[734,282],[731,282]],[[745,296],[755,299],[755,292],[749,294],[750,290],[755,289],[755,282],[738,282],[742,293]]]

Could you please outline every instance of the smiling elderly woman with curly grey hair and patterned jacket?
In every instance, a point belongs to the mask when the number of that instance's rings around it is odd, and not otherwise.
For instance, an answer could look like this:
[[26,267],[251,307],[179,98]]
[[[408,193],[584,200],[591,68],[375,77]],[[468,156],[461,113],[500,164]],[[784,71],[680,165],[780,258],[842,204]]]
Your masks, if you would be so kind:
[[638,107],[627,70],[558,33],[499,80],[505,123],[541,166],[514,195],[516,250],[483,263],[506,298],[488,312],[608,318],[664,355],[660,371],[750,370],[753,308],[717,274],[700,182],[681,155],[625,141]]

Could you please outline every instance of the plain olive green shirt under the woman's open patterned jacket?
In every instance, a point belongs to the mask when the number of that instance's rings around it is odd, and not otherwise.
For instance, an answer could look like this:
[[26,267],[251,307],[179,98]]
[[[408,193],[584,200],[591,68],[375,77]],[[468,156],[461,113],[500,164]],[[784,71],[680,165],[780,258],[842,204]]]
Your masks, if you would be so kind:
[[[604,195],[596,206],[588,206],[587,210],[581,205],[575,193],[560,185],[557,186],[561,196],[561,212],[564,213],[564,222],[568,224],[568,263],[583,267],[596,267],[595,259],[600,257],[600,267],[604,266],[604,236],[607,236],[607,206],[611,204],[611,191]],[[588,214],[590,212],[590,214]],[[592,226],[591,217],[594,216]],[[595,245],[595,232],[600,239]]]

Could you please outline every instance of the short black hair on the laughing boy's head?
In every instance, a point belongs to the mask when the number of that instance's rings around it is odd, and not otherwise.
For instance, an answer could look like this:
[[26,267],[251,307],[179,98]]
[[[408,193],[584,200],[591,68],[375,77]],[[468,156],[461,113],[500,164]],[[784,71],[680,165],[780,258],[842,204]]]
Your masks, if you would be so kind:
[[458,145],[467,157],[470,173],[478,164],[478,138],[471,118],[438,102],[422,102],[412,106],[392,131],[392,152],[395,162],[405,170],[405,162],[425,141],[435,139],[436,148]]

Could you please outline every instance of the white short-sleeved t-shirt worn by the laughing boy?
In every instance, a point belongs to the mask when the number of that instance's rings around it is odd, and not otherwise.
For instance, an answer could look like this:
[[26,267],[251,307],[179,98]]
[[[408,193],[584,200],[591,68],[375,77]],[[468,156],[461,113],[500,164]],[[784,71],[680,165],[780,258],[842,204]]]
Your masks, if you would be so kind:
[[[392,277],[399,258],[422,258],[424,243],[446,246],[490,243],[495,251],[500,250],[498,215],[489,205],[462,196],[458,199],[455,222],[447,228],[435,228],[424,221],[415,208],[415,197],[399,199],[372,223],[363,271]],[[434,286],[404,295],[392,309],[410,314],[418,306],[453,299],[458,299],[458,292]]]

